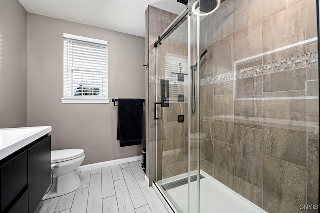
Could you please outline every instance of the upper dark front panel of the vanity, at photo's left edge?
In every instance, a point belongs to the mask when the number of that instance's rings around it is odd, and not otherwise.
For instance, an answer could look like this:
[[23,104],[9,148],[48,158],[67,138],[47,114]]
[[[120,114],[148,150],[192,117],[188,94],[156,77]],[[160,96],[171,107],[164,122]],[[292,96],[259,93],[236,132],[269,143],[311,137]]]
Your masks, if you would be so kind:
[[12,160],[1,165],[0,174],[2,212],[6,207],[6,211],[12,207],[12,202],[19,199],[20,195],[18,196],[18,194],[28,184],[27,152],[24,151]]

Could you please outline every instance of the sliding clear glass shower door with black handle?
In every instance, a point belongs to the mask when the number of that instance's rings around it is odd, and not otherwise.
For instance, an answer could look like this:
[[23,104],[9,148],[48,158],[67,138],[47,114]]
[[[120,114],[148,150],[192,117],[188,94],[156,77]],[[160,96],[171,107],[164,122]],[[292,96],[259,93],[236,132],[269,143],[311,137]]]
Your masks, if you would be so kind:
[[199,212],[199,21],[187,14],[156,48],[156,177],[178,212]]

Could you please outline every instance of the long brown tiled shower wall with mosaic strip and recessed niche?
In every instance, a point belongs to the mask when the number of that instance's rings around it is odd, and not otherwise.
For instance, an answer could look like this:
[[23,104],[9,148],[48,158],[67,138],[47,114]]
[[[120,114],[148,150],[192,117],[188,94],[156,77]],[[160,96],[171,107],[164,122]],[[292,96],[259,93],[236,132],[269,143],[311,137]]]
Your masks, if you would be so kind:
[[315,0],[226,0],[201,21],[200,167],[268,212],[318,204],[316,24]]

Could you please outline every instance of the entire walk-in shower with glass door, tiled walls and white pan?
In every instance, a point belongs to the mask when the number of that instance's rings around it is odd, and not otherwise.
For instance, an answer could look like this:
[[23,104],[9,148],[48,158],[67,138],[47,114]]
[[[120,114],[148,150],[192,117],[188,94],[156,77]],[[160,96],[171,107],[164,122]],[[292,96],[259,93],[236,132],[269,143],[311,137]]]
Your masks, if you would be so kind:
[[157,13],[155,185],[177,212],[316,212],[318,5],[213,1]]

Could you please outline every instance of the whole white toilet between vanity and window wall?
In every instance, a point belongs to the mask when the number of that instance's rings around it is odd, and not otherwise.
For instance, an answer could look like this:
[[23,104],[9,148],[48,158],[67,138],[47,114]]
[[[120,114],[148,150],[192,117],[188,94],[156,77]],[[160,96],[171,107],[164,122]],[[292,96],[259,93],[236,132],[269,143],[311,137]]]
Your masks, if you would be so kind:
[[53,184],[42,200],[65,195],[81,186],[81,180],[76,172],[84,160],[83,149],[63,149],[51,151],[51,169]]

